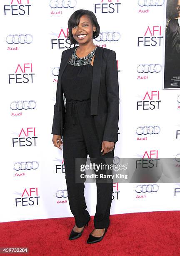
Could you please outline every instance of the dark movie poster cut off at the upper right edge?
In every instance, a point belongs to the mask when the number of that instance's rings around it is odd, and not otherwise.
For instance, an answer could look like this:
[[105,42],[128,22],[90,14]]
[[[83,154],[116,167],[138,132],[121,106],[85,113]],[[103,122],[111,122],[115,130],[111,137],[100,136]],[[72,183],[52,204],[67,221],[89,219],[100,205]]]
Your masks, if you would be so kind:
[[180,0],[167,0],[164,89],[180,89]]

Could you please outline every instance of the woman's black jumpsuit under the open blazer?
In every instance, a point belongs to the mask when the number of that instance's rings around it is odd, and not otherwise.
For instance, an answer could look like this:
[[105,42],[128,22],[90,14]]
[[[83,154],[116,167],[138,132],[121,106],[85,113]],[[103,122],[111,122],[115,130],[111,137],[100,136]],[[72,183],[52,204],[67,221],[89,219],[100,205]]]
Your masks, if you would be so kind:
[[[67,64],[62,74],[62,91],[66,98],[65,123],[63,131],[63,156],[65,164],[65,178],[70,210],[75,217],[78,228],[87,223],[90,218],[86,210],[84,197],[84,183],[75,182],[75,159],[90,159],[100,157],[111,158],[112,152],[102,156],[102,141],[99,141],[93,116],[90,115],[90,96],[93,67],[89,64],[74,66]],[[91,161],[92,162],[92,161]],[[97,183],[97,206],[94,217],[95,228],[109,226],[110,206],[112,202],[113,183]],[[91,198],[93,200],[93,198]]]

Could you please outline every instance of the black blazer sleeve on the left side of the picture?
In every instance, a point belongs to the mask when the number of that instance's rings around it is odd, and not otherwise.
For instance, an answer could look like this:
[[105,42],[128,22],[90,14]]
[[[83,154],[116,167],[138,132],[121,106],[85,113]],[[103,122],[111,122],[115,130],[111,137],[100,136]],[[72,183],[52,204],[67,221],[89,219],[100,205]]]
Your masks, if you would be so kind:
[[[64,51],[61,55],[61,63],[60,68],[62,66],[62,59],[64,57]],[[59,69],[60,70],[60,69]],[[57,79],[57,88],[56,88],[56,102],[55,102],[55,108],[54,108],[54,116],[53,116],[53,123],[52,123],[52,132],[51,134],[55,135],[61,135],[60,134],[60,128],[61,128],[61,118],[62,118],[62,110],[60,109],[60,72]]]

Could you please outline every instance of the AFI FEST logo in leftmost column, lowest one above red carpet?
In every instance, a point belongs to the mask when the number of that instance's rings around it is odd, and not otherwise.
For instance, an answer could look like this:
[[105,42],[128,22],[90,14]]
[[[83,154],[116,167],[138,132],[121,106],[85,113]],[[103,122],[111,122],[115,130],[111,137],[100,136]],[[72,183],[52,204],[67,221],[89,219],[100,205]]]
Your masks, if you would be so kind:
[[21,197],[15,198],[15,206],[31,206],[38,205],[37,187],[30,187],[29,189],[24,189]]

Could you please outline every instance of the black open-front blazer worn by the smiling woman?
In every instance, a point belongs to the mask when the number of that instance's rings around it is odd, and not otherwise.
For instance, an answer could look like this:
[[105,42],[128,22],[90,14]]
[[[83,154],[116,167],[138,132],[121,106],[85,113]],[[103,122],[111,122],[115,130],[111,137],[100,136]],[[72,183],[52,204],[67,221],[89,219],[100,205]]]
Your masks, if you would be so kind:
[[[62,52],[57,80],[52,134],[61,135],[61,138],[65,121],[61,77],[74,50],[72,47]],[[119,84],[115,51],[97,46],[92,70],[90,114],[95,120],[99,140],[118,141]]]

